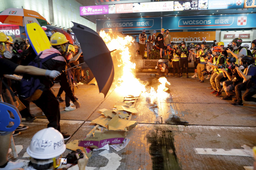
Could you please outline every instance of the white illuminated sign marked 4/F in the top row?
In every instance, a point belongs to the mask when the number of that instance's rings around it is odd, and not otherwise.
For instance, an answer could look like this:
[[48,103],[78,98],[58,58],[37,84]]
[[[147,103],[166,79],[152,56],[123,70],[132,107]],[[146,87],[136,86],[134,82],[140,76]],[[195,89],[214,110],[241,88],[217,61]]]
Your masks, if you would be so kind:
[[133,12],[173,11],[173,1],[133,3]]

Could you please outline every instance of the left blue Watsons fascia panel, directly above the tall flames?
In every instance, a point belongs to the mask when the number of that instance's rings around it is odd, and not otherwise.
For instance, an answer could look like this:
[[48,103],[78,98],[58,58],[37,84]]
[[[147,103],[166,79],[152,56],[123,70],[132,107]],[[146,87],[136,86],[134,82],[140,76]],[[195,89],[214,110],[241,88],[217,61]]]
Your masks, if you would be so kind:
[[114,31],[142,31],[161,29],[161,17],[152,18],[121,18],[96,20],[97,32],[101,29],[113,29]]

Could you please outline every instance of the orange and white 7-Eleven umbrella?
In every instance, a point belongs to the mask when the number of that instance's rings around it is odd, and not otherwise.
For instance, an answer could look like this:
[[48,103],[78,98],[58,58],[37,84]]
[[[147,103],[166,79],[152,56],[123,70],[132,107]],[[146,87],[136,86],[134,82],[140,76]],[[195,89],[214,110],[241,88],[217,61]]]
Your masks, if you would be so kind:
[[25,27],[29,23],[38,23],[40,26],[49,25],[38,12],[23,8],[8,8],[0,12],[0,22]]

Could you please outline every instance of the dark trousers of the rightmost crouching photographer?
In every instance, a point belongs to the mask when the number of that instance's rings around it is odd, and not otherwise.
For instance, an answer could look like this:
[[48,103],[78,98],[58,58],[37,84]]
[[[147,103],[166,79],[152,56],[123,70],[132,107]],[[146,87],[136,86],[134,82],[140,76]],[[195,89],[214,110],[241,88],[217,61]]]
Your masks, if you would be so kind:
[[[237,97],[238,103],[243,103],[242,99],[245,101],[256,102],[256,98],[252,97],[253,95],[256,94],[256,87],[246,88],[246,84],[247,83],[244,82],[235,86],[235,95]],[[245,93],[243,94],[243,97],[242,97],[242,91],[244,90],[245,90]]]

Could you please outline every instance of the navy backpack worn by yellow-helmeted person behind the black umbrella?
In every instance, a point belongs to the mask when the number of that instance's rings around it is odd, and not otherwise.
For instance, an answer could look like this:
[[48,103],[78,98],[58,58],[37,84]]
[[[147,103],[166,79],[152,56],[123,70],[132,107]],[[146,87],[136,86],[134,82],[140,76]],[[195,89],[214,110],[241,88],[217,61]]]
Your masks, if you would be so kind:
[[[39,58],[41,54],[42,53],[36,56],[35,59],[28,64],[28,66],[34,66],[41,69],[44,62],[60,55],[58,53],[54,53],[41,59]],[[35,101],[39,99],[43,93],[43,88],[44,87],[42,87],[42,84],[40,83],[39,76],[29,74],[23,75],[23,78],[21,79],[21,97],[24,100]]]

